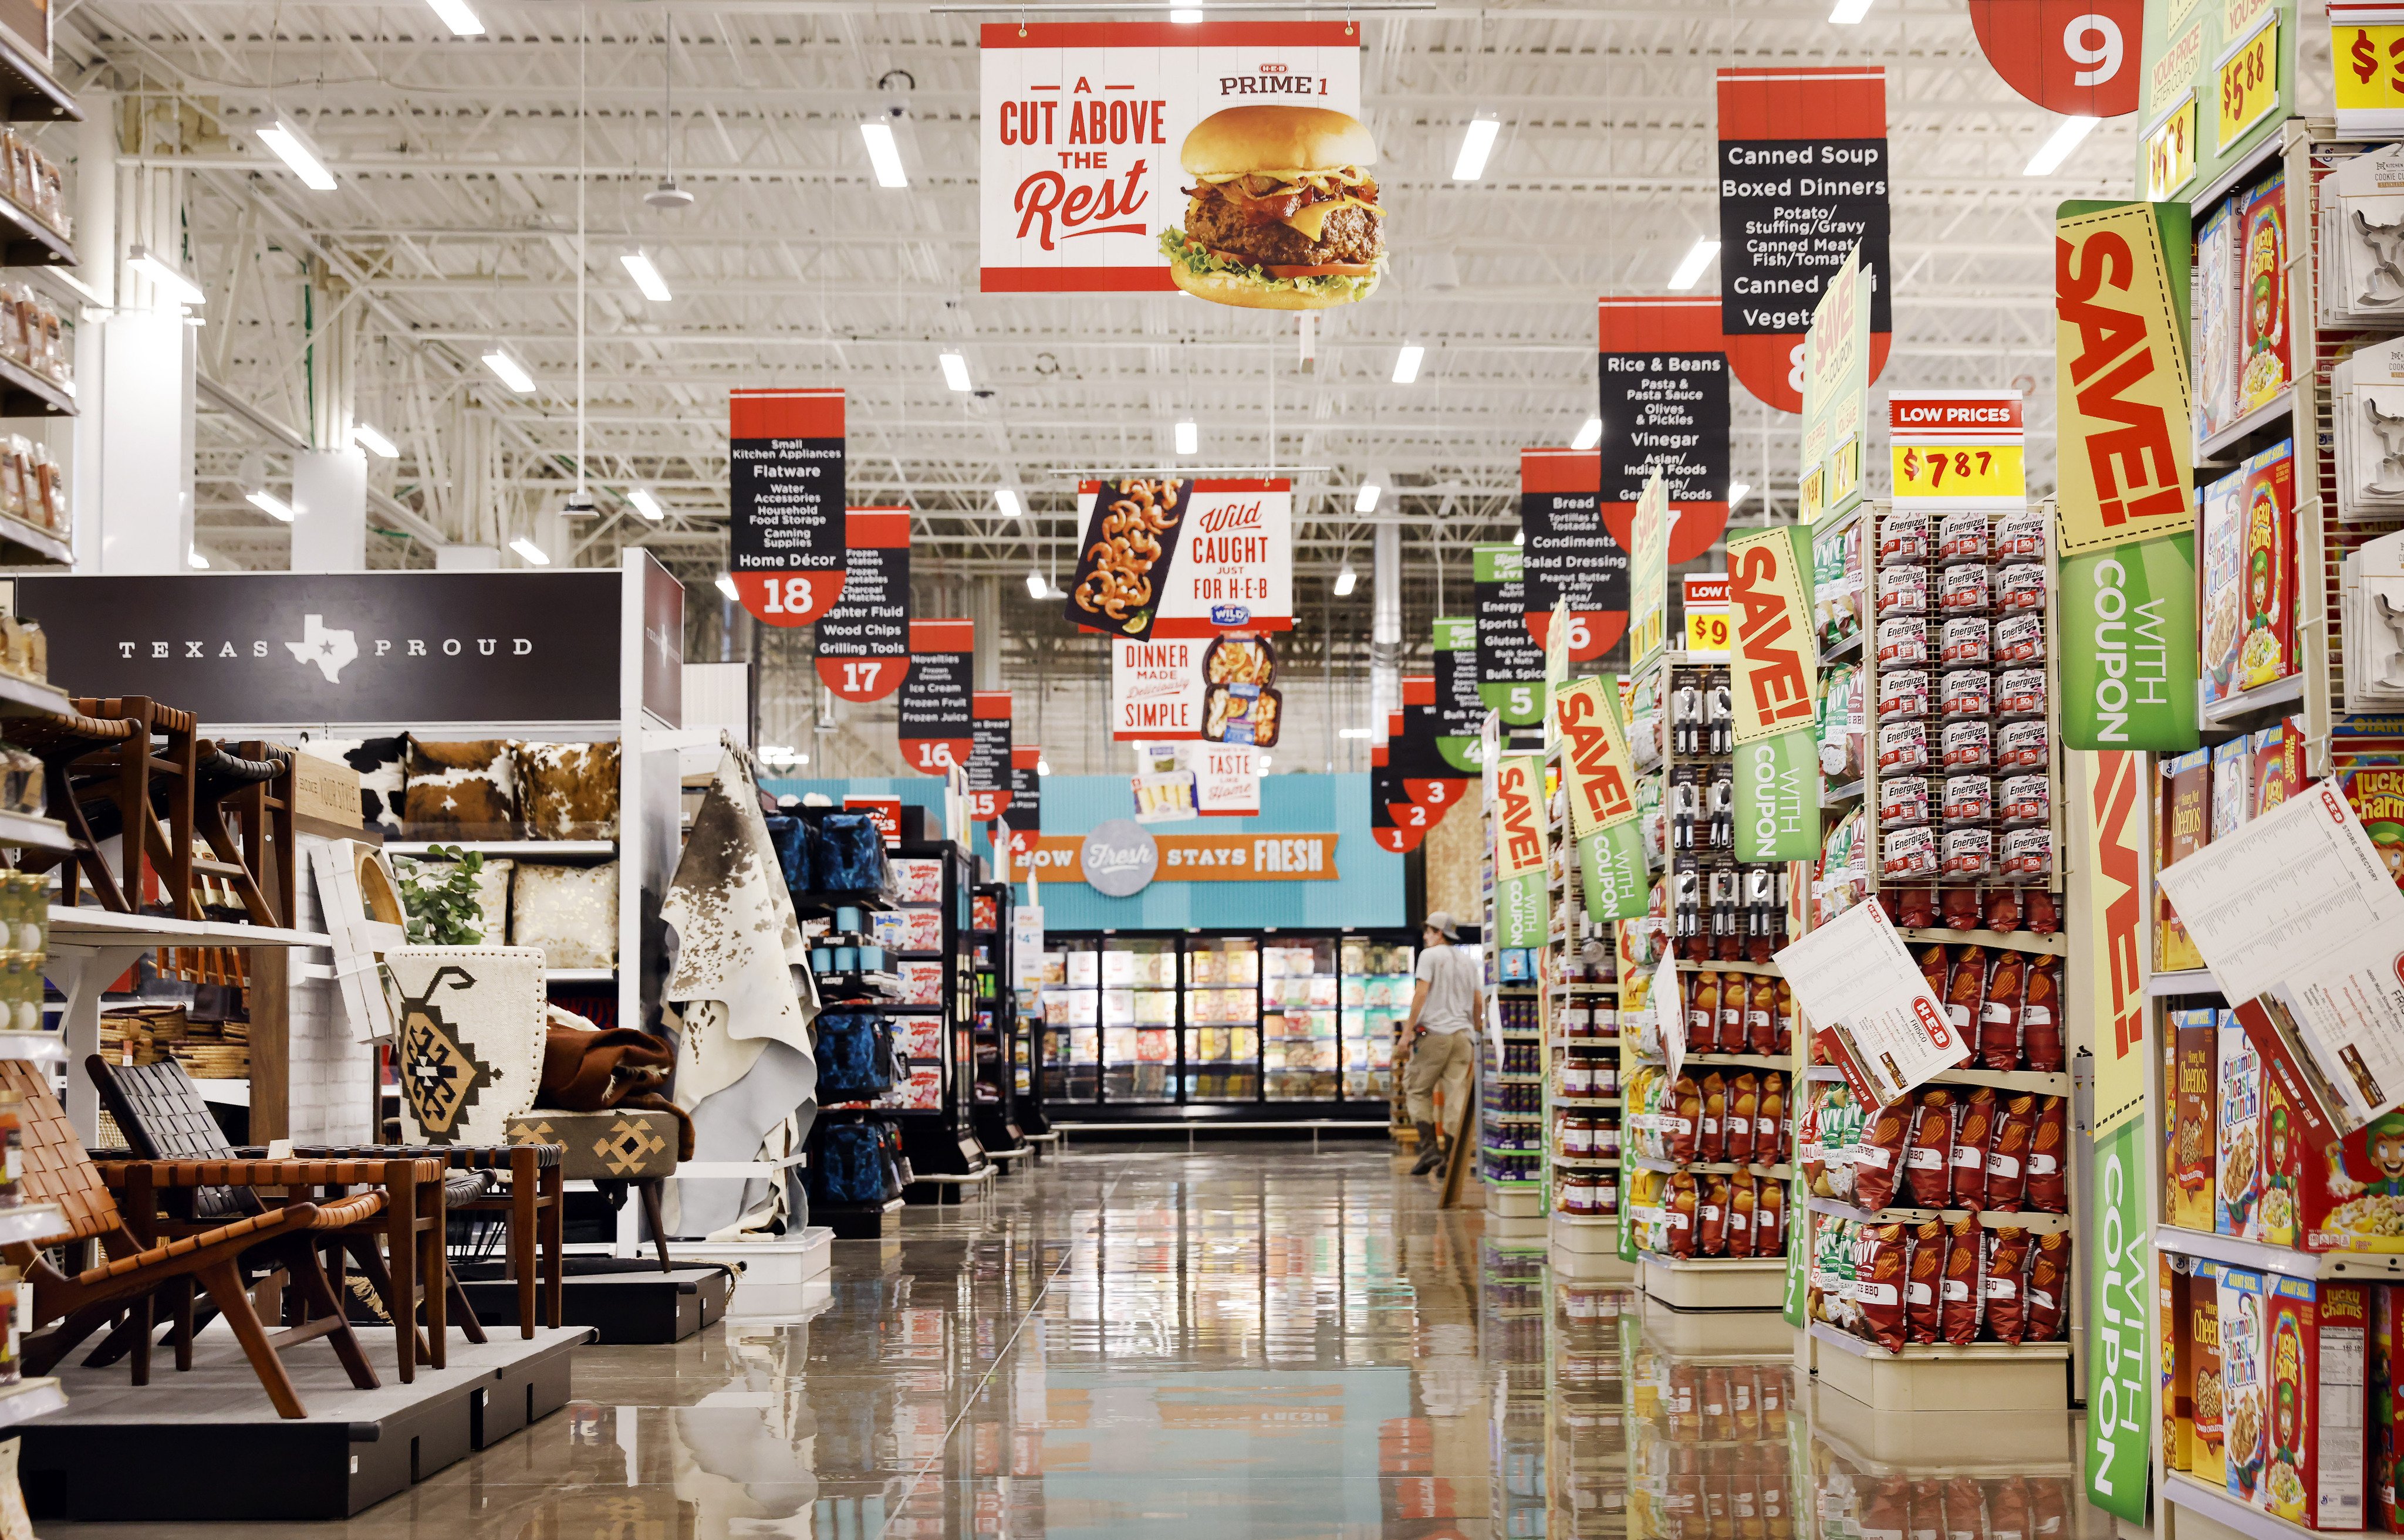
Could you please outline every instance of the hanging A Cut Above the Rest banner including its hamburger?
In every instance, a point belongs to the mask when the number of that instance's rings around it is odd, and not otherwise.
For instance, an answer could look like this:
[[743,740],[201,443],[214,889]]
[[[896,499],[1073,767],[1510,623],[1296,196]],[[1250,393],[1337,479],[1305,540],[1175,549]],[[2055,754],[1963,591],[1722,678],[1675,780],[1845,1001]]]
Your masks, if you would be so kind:
[[1377,288],[1351,22],[995,22],[981,46],[986,293],[1322,310]]

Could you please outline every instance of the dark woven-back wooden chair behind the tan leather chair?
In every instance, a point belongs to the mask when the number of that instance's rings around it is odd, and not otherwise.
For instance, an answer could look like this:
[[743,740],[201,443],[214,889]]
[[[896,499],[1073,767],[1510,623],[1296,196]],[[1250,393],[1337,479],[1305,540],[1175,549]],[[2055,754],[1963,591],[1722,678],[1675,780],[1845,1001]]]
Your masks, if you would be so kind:
[[[209,1112],[209,1103],[200,1098],[200,1088],[192,1076],[185,1074],[183,1064],[173,1060],[163,1064],[139,1064],[120,1067],[111,1064],[101,1055],[84,1060],[84,1069],[91,1074],[91,1084],[101,1093],[101,1105],[108,1115],[118,1120],[125,1141],[144,1160],[243,1160],[245,1151],[236,1151],[226,1144],[226,1134],[216,1127],[216,1117]],[[257,1153],[248,1153],[257,1158]],[[358,1225],[344,1230],[332,1230],[325,1235],[327,1242],[339,1244],[349,1252],[351,1261],[358,1264],[361,1276],[375,1288],[377,1297],[385,1302],[385,1312],[392,1317],[394,1329],[394,1353],[401,1365],[401,1381],[416,1379],[416,1365],[428,1362],[435,1369],[447,1367],[445,1353],[445,1317],[457,1314],[459,1331],[471,1343],[486,1341],[483,1324],[476,1319],[474,1307],[466,1302],[466,1293],[450,1271],[450,1259],[442,1252],[442,1228],[445,1211],[452,1204],[466,1206],[483,1196],[486,1177],[478,1170],[450,1170],[442,1151],[389,1151],[389,1148],[344,1148],[344,1151],[293,1151],[298,1160],[442,1160],[442,1199],[421,1201],[418,1194],[387,1194],[382,1216],[370,1216]],[[389,1201],[399,1196],[404,1201]],[[209,1225],[221,1225],[228,1218],[245,1218],[267,1211],[267,1199],[248,1187],[192,1187],[166,1194],[161,1230],[188,1232],[204,1230]],[[377,1254],[377,1242],[389,1242],[392,1264]],[[428,1244],[430,1240],[430,1244]],[[435,1269],[440,1269],[440,1285],[435,1283]],[[421,1283],[423,1281],[423,1283]],[[426,1305],[426,1326],[418,1331],[418,1305]],[[204,1324],[204,1319],[195,1321]],[[180,1326],[178,1317],[178,1362],[185,1353],[188,1331]],[[115,1357],[123,1345],[115,1336],[94,1353],[87,1365],[99,1367]]]

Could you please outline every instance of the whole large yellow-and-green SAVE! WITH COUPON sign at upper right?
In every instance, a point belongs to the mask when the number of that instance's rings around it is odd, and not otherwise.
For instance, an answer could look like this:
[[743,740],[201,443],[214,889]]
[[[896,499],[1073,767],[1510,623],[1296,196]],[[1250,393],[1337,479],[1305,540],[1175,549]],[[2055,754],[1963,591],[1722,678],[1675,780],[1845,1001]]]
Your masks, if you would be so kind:
[[2197,745],[2185,204],[2065,202],[2053,243],[2063,745]]

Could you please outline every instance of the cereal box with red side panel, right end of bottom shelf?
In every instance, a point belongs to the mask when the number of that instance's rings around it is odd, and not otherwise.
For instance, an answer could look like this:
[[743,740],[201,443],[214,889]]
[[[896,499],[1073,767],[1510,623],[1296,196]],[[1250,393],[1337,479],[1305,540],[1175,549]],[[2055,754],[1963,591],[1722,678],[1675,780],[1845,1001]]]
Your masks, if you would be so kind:
[[2361,1283],[2262,1281],[2269,1451],[2255,1494],[2289,1523],[2363,1528],[2368,1326]]

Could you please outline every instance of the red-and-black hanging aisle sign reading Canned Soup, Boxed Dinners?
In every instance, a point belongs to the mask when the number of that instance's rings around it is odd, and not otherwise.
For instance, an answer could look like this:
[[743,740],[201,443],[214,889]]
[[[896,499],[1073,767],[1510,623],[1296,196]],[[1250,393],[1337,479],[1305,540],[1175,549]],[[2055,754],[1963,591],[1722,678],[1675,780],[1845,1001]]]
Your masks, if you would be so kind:
[[1870,276],[1870,382],[1894,341],[1887,264],[1887,72],[1719,72],[1719,329],[1755,396],[1803,411],[1803,334],[1858,245]]

